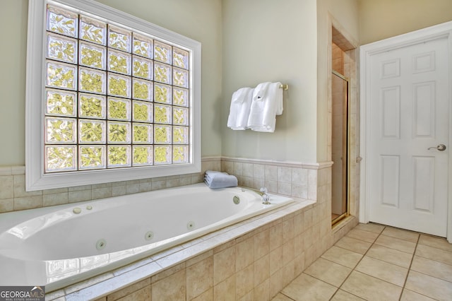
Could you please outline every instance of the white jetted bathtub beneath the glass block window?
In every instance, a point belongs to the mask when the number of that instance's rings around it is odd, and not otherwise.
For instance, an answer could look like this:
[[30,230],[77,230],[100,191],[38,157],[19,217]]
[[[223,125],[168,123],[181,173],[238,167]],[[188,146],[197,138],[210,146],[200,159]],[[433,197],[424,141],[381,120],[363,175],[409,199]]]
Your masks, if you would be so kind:
[[1,213],[0,285],[61,288],[291,201],[200,183]]

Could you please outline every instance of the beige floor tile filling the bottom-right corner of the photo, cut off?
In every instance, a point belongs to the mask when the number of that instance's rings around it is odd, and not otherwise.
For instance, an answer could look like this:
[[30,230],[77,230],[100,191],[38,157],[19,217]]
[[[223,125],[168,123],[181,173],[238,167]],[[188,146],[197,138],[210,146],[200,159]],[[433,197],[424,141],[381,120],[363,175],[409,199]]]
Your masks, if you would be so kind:
[[432,276],[410,271],[405,288],[436,300],[451,300],[452,283]]

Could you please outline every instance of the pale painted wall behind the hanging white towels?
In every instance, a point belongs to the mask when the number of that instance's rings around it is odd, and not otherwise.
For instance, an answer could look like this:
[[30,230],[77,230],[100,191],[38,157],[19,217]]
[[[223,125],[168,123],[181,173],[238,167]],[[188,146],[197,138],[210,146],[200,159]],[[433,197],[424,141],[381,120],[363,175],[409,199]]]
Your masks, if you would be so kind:
[[[316,162],[316,0],[223,0],[222,155]],[[227,128],[242,87],[289,84],[274,133]]]

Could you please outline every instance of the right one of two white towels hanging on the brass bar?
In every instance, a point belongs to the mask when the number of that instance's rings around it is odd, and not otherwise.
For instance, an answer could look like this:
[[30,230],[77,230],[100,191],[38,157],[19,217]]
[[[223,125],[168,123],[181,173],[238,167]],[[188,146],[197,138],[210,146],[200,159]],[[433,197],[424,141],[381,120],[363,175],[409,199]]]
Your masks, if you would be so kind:
[[254,89],[248,127],[253,131],[273,133],[276,115],[283,114],[283,89],[281,83],[260,83]]

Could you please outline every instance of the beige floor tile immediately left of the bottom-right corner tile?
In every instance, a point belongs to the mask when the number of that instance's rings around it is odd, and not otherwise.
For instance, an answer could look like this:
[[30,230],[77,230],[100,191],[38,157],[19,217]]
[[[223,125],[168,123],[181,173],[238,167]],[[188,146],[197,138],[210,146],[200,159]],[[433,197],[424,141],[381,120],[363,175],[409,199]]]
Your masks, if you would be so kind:
[[365,273],[369,276],[374,276],[383,281],[388,281],[395,285],[403,286],[405,278],[407,278],[408,268],[402,268],[395,264],[388,264],[386,261],[374,259],[369,256],[364,256],[355,268],[355,271]]

